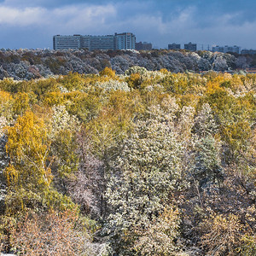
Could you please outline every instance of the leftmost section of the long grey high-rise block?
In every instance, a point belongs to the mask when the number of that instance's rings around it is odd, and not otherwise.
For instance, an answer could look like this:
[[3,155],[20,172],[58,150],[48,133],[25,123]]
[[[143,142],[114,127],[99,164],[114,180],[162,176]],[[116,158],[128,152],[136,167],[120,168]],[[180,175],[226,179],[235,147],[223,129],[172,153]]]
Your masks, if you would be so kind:
[[53,37],[54,49],[79,49],[81,47],[81,36],[61,36],[56,35]]

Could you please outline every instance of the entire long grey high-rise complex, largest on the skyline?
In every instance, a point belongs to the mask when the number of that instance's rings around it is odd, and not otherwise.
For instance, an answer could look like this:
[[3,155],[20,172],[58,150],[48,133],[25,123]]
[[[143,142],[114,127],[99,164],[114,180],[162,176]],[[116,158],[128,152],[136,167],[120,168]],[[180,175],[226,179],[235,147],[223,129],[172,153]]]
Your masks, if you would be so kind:
[[53,37],[54,49],[135,49],[136,38],[132,33],[121,33],[107,36],[73,35]]

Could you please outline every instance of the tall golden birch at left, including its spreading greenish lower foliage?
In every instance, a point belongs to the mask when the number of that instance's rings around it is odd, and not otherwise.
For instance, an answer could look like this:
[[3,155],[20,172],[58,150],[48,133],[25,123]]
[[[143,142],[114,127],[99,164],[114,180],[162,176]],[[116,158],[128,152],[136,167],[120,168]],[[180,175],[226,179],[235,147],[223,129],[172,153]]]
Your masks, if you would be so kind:
[[7,130],[6,149],[10,158],[5,170],[9,186],[7,210],[15,213],[26,208],[73,207],[67,197],[51,187],[50,141],[43,120],[29,111]]

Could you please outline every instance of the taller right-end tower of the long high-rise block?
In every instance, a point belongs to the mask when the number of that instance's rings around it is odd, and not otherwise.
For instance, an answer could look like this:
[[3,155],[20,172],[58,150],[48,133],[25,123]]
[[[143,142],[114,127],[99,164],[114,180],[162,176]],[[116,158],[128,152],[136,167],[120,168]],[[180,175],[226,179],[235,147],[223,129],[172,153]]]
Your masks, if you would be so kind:
[[115,33],[113,49],[135,49],[136,38],[133,33]]

